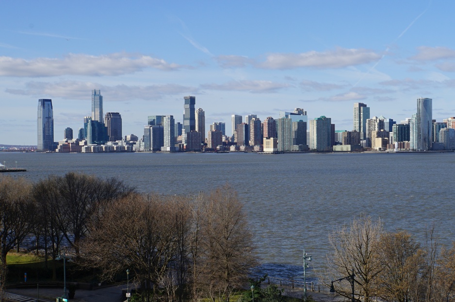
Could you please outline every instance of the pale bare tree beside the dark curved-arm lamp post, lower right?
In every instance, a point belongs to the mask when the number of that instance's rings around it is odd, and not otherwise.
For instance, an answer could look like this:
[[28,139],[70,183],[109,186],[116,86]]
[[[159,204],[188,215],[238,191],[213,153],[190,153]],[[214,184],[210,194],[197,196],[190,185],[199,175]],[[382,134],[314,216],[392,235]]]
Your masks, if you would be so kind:
[[[334,230],[329,235],[329,242],[334,252],[327,258],[331,278],[339,279],[352,274],[354,269],[358,295],[369,302],[374,294],[377,276],[381,272],[378,259],[380,237],[383,233],[380,219],[373,222],[371,217],[362,216],[354,219],[349,226]],[[336,291],[345,297],[351,296],[350,286],[340,283]]]

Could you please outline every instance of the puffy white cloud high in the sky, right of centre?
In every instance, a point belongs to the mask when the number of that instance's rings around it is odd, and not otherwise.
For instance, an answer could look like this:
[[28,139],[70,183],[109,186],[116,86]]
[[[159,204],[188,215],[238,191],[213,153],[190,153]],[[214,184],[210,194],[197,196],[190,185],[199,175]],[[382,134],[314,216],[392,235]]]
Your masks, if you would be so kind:
[[309,51],[300,54],[275,53],[267,56],[257,66],[265,69],[343,68],[370,63],[381,59],[381,55],[368,49],[347,49],[338,47],[335,50],[317,52]]

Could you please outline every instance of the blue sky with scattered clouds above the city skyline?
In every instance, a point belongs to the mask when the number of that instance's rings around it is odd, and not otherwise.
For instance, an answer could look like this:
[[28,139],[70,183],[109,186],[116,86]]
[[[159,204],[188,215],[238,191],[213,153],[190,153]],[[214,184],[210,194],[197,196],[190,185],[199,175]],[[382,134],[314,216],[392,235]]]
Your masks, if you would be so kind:
[[196,97],[206,130],[231,115],[264,120],[303,108],[353,129],[353,105],[398,123],[433,99],[455,116],[455,1],[3,1],[0,144],[36,145],[38,99],[54,140],[91,115],[119,112],[123,136],[150,115],[183,120]]

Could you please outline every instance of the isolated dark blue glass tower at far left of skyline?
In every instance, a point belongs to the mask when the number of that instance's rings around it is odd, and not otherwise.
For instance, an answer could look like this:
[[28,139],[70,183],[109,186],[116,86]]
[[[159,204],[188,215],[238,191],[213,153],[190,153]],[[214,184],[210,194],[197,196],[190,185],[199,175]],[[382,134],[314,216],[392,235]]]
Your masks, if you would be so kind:
[[52,151],[54,145],[54,111],[52,100],[38,100],[38,151]]

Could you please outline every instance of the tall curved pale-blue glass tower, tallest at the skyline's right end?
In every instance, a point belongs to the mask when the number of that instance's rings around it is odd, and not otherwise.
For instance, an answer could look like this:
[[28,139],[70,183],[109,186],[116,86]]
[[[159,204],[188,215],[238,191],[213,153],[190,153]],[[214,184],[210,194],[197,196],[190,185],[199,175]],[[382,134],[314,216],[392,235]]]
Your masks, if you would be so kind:
[[433,100],[429,98],[417,99],[416,113],[416,151],[428,151],[431,149],[431,140],[433,137]]

